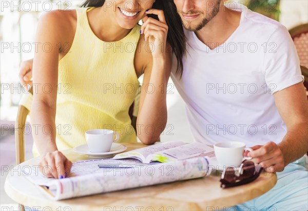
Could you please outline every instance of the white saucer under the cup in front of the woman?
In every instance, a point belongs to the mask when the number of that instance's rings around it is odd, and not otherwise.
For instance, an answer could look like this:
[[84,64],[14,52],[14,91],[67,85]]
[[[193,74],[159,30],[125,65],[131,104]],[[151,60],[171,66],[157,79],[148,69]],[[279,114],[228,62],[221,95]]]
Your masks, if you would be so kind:
[[127,147],[122,144],[112,143],[111,149],[108,152],[90,152],[87,144],[76,146],[73,150],[74,152],[84,154],[92,158],[108,158],[113,154],[122,152],[126,149]]

